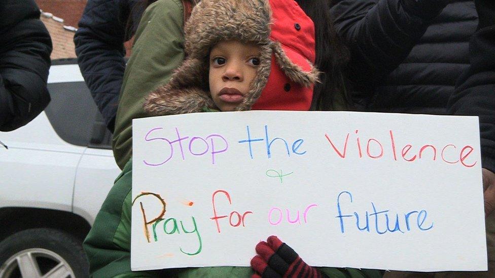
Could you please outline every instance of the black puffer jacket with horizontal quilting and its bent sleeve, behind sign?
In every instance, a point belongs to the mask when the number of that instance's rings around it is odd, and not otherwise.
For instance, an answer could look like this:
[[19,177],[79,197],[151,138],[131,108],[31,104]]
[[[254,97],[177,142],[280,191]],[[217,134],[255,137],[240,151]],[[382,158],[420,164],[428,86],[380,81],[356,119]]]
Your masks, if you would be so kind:
[[455,82],[469,64],[478,16],[473,1],[443,10],[437,2],[344,0],[333,7],[337,31],[351,50],[351,79],[359,77],[358,108],[447,113]]

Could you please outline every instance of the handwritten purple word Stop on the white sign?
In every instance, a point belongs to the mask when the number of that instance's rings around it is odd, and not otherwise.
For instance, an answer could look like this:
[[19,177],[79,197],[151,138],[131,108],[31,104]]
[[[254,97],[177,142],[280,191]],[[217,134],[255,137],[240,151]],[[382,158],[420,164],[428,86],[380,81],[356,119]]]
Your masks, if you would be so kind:
[[[189,136],[184,136],[182,137],[181,134],[179,133],[179,129],[175,128],[175,134],[176,138],[172,138],[173,140],[170,140],[168,138],[164,137],[154,137],[153,133],[155,133],[158,130],[162,130],[163,128],[153,128],[151,129],[146,135],[145,135],[145,141],[146,142],[151,142],[151,141],[156,141],[156,140],[161,140],[165,145],[167,145],[170,148],[170,154],[168,157],[166,157],[167,154],[165,154],[165,157],[162,158],[159,162],[149,162],[146,160],[143,160],[143,162],[148,165],[148,166],[161,166],[165,163],[167,163],[169,160],[172,159],[174,156],[174,150],[176,148],[179,148],[181,152],[181,157],[182,160],[186,160],[186,154],[185,153],[190,153],[195,156],[202,156],[206,153],[211,154],[211,163],[215,164],[215,155],[217,153],[222,153],[227,151],[229,144],[227,143],[227,140],[219,134],[210,134],[206,136],[205,138],[202,138],[200,136],[193,136],[191,139],[189,139]],[[187,144],[187,139],[189,139],[189,144]],[[185,141],[186,140],[186,141]],[[183,141],[185,146],[183,146]],[[218,146],[223,146],[223,149],[219,149]],[[201,151],[198,151],[201,150]]]

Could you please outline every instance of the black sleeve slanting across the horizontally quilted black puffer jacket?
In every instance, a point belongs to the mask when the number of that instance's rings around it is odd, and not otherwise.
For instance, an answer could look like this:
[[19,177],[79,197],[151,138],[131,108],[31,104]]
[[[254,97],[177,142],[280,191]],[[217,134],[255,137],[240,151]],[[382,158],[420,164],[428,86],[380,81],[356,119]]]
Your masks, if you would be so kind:
[[351,53],[351,79],[366,88],[395,69],[441,12],[441,0],[341,0],[331,13]]

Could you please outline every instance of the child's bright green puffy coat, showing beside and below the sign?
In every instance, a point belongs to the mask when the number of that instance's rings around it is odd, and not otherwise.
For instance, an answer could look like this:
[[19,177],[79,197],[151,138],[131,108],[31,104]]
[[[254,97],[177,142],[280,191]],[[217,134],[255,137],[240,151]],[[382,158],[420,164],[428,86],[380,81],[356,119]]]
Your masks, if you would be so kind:
[[[251,267],[195,267],[131,271],[132,160],[115,180],[83,247],[93,277],[251,277]],[[253,249],[255,247],[253,246]],[[349,247],[349,252],[352,251]],[[332,252],[332,251],[329,251]],[[303,258],[304,259],[304,258]],[[329,277],[381,277],[378,270],[318,267]]]

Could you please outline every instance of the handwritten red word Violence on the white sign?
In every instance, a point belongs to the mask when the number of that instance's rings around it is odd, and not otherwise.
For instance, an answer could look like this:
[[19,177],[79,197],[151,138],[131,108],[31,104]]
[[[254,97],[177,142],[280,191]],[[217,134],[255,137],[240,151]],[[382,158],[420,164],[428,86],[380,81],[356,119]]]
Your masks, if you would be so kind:
[[[357,153],[360,158],[364,156],[363,153],[366,153],[366,156],[372,159],[379,159],[382,158],[385,154],[385,148],[383,147],[382,142],[378,141],[376,138],[369,138],[367,143],[366,143],[366,152],[363,152],[363,148],[361,146],[361,139],[358,136],[359,130],[355,131],[356,134],[356,148],[357,148]],[[393,155],[393,159],[395,161],[398,161],[398,155],[397,155],[397,149],[396,149],[396,142],[394,139],[394,133],[392,130],[388,131],[389,137],[390,137],[390,150]],[[347,155],[347,145],[349,142],[349,136],[350,133],[347,133],[347,136],[345,137],[344,140],[344,145],[339,149],[337,145],[332,141],[330,136],[328,134],[325,134],[325,137],[327,138],[328,142],[330,143],[330,146],[332,149],[335,151],[335,153],[341,157],[345,158]],[[419,147],[415,147],[411,144],[406,144],[402,148],[399,157],[402,158],[404,161],[407,162],[413,162],[415,160],[421,159],[424,155],[423,153],[428,150],[428,153],[430,153],[430,156],[432,157],[431,159],[433,161],[437,160],[437,151],[440,150],[440,158],[443,162],[448,163],[448,164],[457,164],[461,163],[464,167],[471,168],[476,165],[477,161],[469,161],[468,157],[470,154],[473,152],[474,148],[470,145],[465,145],[463,147],[457,148],[457,146],[453,144],[447,144],[445,146],[435,146],[432,144],[425,144]],[[459,151],[460,149],[460,151]],[[457,160],[448,160],[446,158],[448,157],[455,157],[458,159]]]

